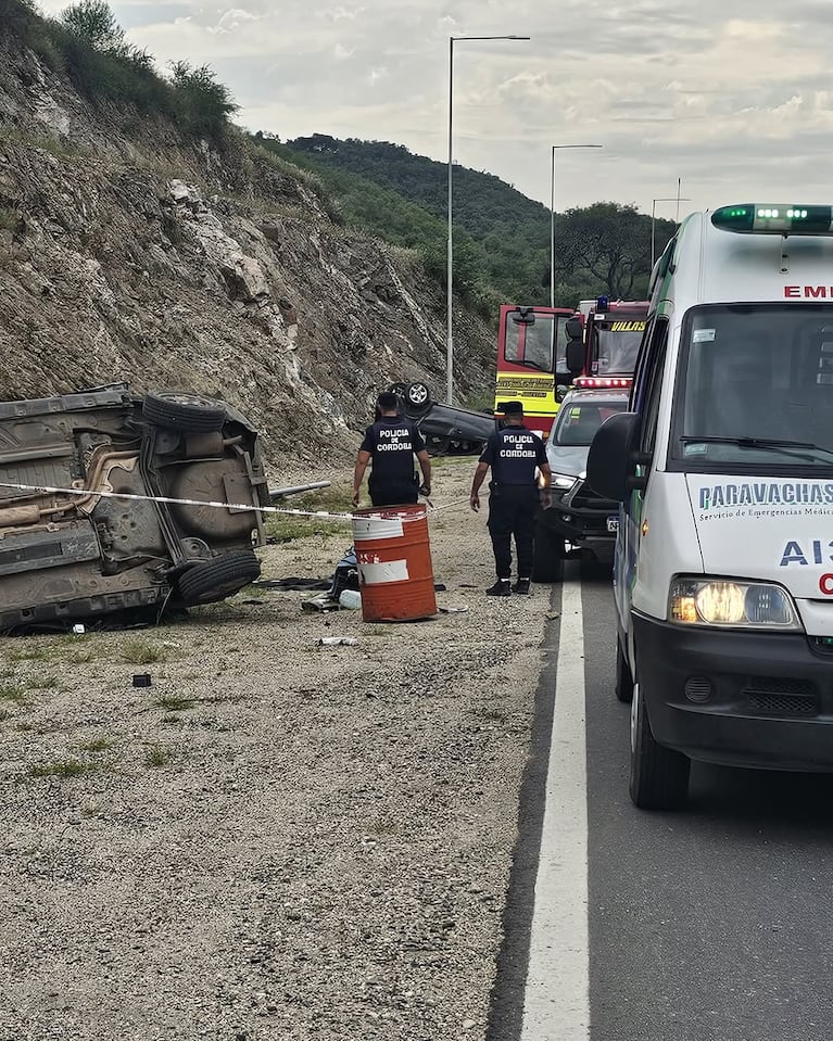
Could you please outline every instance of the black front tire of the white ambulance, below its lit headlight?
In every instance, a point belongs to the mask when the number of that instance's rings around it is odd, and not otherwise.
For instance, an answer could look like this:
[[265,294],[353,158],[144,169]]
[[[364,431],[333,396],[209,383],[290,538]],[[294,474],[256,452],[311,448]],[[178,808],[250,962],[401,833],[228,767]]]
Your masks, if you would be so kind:
[[680,810],[689,795],[691,760],[657,745],[645,702],[634,685],[631,706],[631,802],[640,810]]

